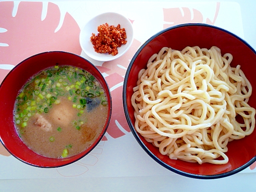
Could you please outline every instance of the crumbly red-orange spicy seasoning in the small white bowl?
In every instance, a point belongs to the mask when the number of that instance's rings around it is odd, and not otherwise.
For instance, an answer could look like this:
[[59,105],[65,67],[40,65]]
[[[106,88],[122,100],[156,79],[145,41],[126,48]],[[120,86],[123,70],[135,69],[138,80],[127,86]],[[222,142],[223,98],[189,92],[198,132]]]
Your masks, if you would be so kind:
[[121,28],[120,24],[116,27],[109,26],[108,23],[102,24],[98,26],[97,30],[99,33],[97,35],[92,33],[90,38],[97,53],[108,53],[115,56],[118,54],[117,48],[127,42],[125,28]]

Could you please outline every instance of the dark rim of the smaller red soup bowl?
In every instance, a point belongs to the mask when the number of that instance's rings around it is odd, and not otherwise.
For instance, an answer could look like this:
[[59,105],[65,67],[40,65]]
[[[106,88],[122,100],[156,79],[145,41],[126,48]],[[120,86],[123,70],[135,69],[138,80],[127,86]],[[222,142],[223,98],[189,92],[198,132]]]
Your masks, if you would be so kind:
[[[0,89],[2,87],[2,84],[4,84],[4,81],[6,80],[6,78],[10,75],[10,73],[16,69],[18,66],[20,66],[23,62],[25,62],[26,60],[29,60],[30,58],[32,57],[35,57],[35,56],[38,56],[38,55],[42,55],[42,54],[48,54],[48,53],[64,53],[64,54],[70,54],[70,55],[73,55],[73,56],[77,56],[77,57],[80,57],[82,58],[83,60],[85,60],[86,62],[88,62],[96,71],[98,71],[99,75],[102,76],[102,80],[104,80],[104,83],[106,84],[106,87],[107,87],[107,92],[109,94],[109,98],[110,98],[110,101],[109,101],[109,108],[110,108],[110,111],[109,111],[109,118],[107,119],[106,121],[106,126],[104,127],[104,131],[101,132],[101,136],[99,137],[98,141],[96,143],[94,143],[94,146],[92,148],[90,148],[90,150],[88,150],[84,155],[80,156],[79,158],[76,158],[72,161],[69,161],[68,163],[62,163],[60,165],[56,165],[56,166],[40,166],[40,165],[36,165],[36,164],[32,164],[32,163],[29,163],[27,162],[26,160],[23,160],[21,158],[19,158],[18,156],[14,155],[4,144],[4,140],[1,138],[0,136],[0,143],[4,146],[4,148],[13,156],[15,157],[16,159],[20,160],[21,162],[25,163],[25,164],[28,164],[30,166],[34,166],[34,167],[38,167],[38,168],[58,168],[58,167],[62,167],[62,166],[66,166],[66,165],[69,165],[69,164],[72,164],[74,162],[77,162],[78,160],[84,158],[86,155],[88,155],[98,144],[99,142],[102,140],[102,138],[104,137],[104,135],[106,134],[106,131],[108,129],[108,126],[110,124],[110,119],[111,119],[111,115],[112,115],[112,96],[111,96],[111,92],[110,92],[110,88],[108,86],[108,83],[106,82],[106,79],[104,78],[104,76],[102,75],[102,73],[100,72],[100,70],[98,70],[98,68],[96,68],[96,66],[94,64],[92,64],[92,62],[90,62],[89,60],[87,60],[86,58],[83,58],[82,56],[79,56],[77,54],[74,54],[74,53],[71,53],[71,52],[66,52],[66,51],[46,51],[46,52],[40,52],[40,53],[37,53],[37,54],[34,54],[32,56],[29,56],[28,58],[22,60],[21,62],[19,62],[16,66],[14,66],[14,68],[12,68],[12,70],[10,70],[10,72],[8,72],[8,74],[4,77],[4,79],[2,80],[1,84],[0,84]],[[83,153],[83,152],[81,152]],[[39,155],[39,154],[38,154]],[[39,155],[40,156],[40,155]],[[46,157],[47,158],[47,157]],[[72,158],[72,156],[70,157]],[[54,159],[54,158],[49,158],[49,159]]]

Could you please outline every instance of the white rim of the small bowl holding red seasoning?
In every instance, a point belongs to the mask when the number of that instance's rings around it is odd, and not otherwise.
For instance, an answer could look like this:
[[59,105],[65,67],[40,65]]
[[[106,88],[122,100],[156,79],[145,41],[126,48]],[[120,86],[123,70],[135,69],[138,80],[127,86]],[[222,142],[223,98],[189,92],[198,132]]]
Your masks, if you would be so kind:
[[[88,54],[87,48],[84,48],[84,46],[82,46],[82,39],[81,39],[81,38],[82,38],[82,32],[83,32],[84,28],[86,28],[86,26],[87,26],[90,22],[92,22],[93,20],[95,20],[95,19],[98,18],[98,17],[102,17],[102,16],[108,15],[108,14],[114,14],[114,15],[116,15],[116,16],[119,16],[119,17],[124,18],[124,20],[127,21],[128,25],[130,26],[130,30],[131,30],[131,37],[130,37],[131,39],[130,39],[130,42],[129,42],[128,46],[126,47],[126,49],[125,49],[122,53],[118,52],[117,55],[105,59],[104,57],[103,57],[103,58],[101,58],[101,57],[99,58],[98,56],[94,56],[94,55],[92,55],[92,54],[90,54],[90,53]],[[103,22],[102,22],[102,23],[103,23]],[[121,26],[121,27],[122,27],[122,26]],[[127,32],[126,32],[126,34],[127,34]],[[108,62],[108,61],[115,60],[115,59],[121,57],[122,55],[124,55],[124,54],[129,50],[129,48],[131,47],[132,42],[133,42],[133,37],[134,37],[134,30],[133,30],[133,27],[132,27],[132,22],[131,22],[126,16],[124,16],[124,15],[118,13],[118,12],[103,12],[103,13],[101,13],[101,14],[98,14],[98,15],[92,17],[90,20],[88,20],[88,21],[82,26],[81,31],[80,31],[80,34],[79,34],[79,42],[80,42],[80,46],[81,46],[81,48],[82,48],[82,51],[83,51],[88,57],[90,57],[90,58],[92,58],[92,59],[94,59],[94,60],[97,60],[97,61]],[[127,38],[126,38],[126,40],[127,40]],[[125,44],[124,44],[124,45],[125,45]],[[100,54],[100,53],[99,53],[99,54]]]

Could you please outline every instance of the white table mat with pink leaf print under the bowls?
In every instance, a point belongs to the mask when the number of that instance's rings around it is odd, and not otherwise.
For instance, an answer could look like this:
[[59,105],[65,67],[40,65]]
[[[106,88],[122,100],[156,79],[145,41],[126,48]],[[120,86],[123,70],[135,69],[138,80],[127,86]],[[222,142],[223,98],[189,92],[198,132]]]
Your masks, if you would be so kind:
[[[132,22],[132,46],[110,62],[92,60],[79,44],[80,29],[94,16],[118,12]],[[104,138],[81,160],[60,168],[37,168],[20,162],[0,144],[0,179],[170,176],[133,137],[122,106],[124,75],[132,56],[151,36],[176,24],[206,23],[244,38],[235,2],[0,2],[0,82],[25,58],[50,50],[78,54],[97,66],[112,94],[112,118]],[[256,172],[252,164],[242,173]]]

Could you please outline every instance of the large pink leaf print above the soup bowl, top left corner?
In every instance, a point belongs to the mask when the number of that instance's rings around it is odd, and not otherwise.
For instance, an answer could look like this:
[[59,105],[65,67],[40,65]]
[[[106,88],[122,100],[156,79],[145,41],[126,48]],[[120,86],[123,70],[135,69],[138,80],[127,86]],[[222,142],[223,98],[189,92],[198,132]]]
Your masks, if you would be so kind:
[[[0,2],[0,64],[16,65],[34,54],[62,50],[80,55],[80,28],[74,18],[66,13],[61,28],[60,9],[48,3],[47,15],[42,16],[42,2],[20,2],[16,16],[12,16],[14,2]],[[72,30],[70,30],[72,29]],[[10,70],[0,69],[0,82]]]

